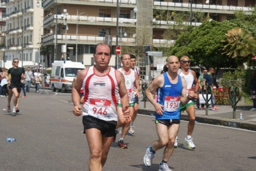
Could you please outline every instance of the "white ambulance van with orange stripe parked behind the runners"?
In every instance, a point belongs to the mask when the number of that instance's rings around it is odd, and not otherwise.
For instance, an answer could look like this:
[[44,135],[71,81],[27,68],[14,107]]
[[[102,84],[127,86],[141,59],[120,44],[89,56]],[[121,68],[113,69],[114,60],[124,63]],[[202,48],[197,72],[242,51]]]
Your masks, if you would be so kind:
[[54,61],[51,67],[51,87],[53,92],[56,90],[72,90],[72,81],[76,77],[77,70],[85,69],[81,62],[73,61]]

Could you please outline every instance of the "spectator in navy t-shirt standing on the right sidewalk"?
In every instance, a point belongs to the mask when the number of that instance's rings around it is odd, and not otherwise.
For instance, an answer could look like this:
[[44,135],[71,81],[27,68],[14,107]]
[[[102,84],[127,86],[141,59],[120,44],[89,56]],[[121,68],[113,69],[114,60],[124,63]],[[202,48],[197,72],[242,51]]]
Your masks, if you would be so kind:
[[[213,68],[209,68],[208,72],[203,75],[203,85],[209,85],[209,86],[214,86],[213,85],[213,78],[212,78],[212,74],[214,73],[214,69]],[[206,88],[206,87],[205,87]],[[219,110],[219,108],[217,108],[215,106],[215,101],[214,101],[214,92],[212,91],[212,98],[210,99],[210,101],[212,102],[212,110]]]

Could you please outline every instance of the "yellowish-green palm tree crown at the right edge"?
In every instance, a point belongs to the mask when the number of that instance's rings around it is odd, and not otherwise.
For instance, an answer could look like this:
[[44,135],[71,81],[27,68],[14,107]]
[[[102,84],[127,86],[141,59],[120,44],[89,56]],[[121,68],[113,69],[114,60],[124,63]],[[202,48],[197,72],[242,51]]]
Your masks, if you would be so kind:
[[250,60],[255,54],[256,41],[250,33],[242,28],[230,29],[226,34],[226,40],[223,40],[222,54],[226,54],[230,58],[242,66],[245,61]]

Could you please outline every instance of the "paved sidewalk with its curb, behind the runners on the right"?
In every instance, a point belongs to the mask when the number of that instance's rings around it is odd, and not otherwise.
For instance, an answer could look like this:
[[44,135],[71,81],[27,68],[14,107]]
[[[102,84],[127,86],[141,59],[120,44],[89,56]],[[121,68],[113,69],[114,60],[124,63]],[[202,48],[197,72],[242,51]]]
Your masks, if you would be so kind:
[[[155,108],[150,102],[142,102],[139,99],[139,114],[155,115]],[[195,106],[196,107],[196,106]],[[252,106],[237,106],[235,119],[233,118],[233,108],[228,105],[218,106],[219,110],[209,110],[205,115],[205,110],[196,110],[196,122],[214,124],[220,126],[239,127],[256,131],[256,111],[250,111]],[[243,120],[240,120],[240,113],[243,113]],[[182,120],[189,120],[186,112],[181,115]]]

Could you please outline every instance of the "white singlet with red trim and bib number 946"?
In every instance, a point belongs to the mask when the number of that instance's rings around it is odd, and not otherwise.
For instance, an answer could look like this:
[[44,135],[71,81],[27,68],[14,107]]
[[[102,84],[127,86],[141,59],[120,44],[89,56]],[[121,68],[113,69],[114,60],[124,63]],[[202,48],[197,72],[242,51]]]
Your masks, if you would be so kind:
[[101,120],[117,121],[117,95],[119,86],[115,77],[115,69],[105,76],[94,73],[94,66],[89,67],[83,79],[83,115],[90,115]]

